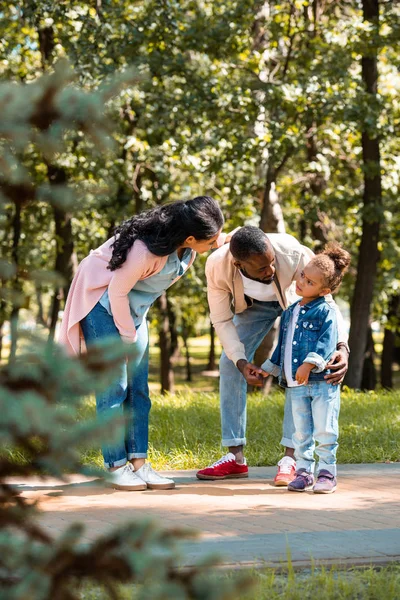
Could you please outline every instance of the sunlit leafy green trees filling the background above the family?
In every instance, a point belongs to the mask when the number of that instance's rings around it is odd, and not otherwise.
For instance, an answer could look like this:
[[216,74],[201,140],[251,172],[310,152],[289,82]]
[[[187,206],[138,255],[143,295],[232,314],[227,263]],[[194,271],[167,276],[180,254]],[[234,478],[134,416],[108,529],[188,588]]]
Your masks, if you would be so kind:
[[[53,153],[79,199],[72,220],[78,260],[133,213],[202,193],[220,201],[228,230],[257,223],[269,174],[290,233],[312,247],[339,239],[354,255],[342,288],[350,299],[365,216],[361,131],[367,129],[381,147],[379,217],[386,235],[373,316],[384,321],[391,290],[399,285],[397,3],[380,3],[379,27],[362,20],[361,5],[344,1],[24,0],[2,2],[1,11],[3,80],[35,82],[64,57],[87,91],[130,67],[146,75],[140,86],[115,94],[107,116],[92,127],[103,141],[113,129],[113,151],[99,154],[97,141],[83,131],[64,136],[62,151]],[[379,89],[372,102],[360,61],[374,48]],[[89,99],[82,110],[92,110]],[[50,129],[46,143],[59,149],[57,128]],[[19,262],[43,270],[54,264],[59,240],[46,200],[46,157],[24,148],[19,169],[43,189],[22,207]],[[12,167],[10,160],[5,154],[4,168]],[[0,244],[8,256],[14,215],[7,196],[5,205]],[[197,277],[204,287],[201,268]],[[171,294],[178,318],[190,322],[181,292],[193,294],[201,313],[207,304],[201,286],[185,285]],[[19,277],[8,287],[15,299],[21,288],[34,298],[54,284],[32,288]]]

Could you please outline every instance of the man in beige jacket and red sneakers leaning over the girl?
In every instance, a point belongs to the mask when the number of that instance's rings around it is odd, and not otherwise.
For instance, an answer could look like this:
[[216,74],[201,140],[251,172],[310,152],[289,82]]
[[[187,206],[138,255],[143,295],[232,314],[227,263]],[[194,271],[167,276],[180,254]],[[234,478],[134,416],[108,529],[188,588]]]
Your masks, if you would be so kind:
[[[243,454],[247,384],[261,386],[263,381],[262,369],[252,360],[282,311],[298,299],[295,281],[313,256],[309,248],[291,235],[266,235],[258,227],[246,226],[232,236],[230,245],[225,244],[208,258],[210,316],[223,347],[220,360],[222,444],[228,446],[229,453],[200,470],[198,479],[248,477]],[[328,365],[333,373],[325,379],[338,385],[347,371],[349,348],[343,318],[333,304],[338,313],[339,342]],[[285,486],[294,478],[293,433],[292,409],[285,404],[281,444],[286,452],[278,463],[274,480],[277,486]]]

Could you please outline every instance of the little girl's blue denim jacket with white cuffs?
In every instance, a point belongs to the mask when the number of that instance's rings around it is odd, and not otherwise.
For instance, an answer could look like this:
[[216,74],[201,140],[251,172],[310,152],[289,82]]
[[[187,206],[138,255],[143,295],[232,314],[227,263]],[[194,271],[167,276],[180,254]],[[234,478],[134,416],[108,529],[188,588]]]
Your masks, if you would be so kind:
[[[300,300],[298,301],[300,302]],[[271,359],[266,360],[261,368],[274,377],[279,377],[279,383],[286,387],[283,358],[290,319],[295,302],[282,313],[279,329],[279,340]],[[300,307],[299,317],[293,335],[292,345],[292,377],[303,362],[315,365],[309,376],[309,383],[323,381],[329,373],[326,365],[336,350],[338,331],[336,311],[321,296]]]

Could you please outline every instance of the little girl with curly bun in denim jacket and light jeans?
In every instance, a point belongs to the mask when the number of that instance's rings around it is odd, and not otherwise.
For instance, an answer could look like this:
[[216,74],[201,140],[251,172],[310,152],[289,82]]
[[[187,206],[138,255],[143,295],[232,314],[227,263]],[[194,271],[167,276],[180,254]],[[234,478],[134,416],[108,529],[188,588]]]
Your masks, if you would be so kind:
[[[340,387],[330,385],[324,375],[336,350],[337,323],[336,311],[325,296],[337,290],[349,264],[349,253],[332,243],[304,267],[296,282],[302,299],[283,312],[278,346],[261,367],[267,375],[279,377],[292,406],[297,471],[290,491],[336,490]],[[314,450],[319,457],[316,482]]]

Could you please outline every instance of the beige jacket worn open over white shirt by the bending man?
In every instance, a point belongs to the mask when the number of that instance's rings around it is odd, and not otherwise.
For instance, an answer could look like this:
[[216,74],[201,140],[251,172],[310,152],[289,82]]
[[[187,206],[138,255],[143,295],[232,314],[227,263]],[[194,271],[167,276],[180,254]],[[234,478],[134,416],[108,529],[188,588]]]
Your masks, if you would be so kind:
[[[279,304],[283,309],[298,300],[295,280],[314,253],[302,246],[293,236],[286,233],[270,233],[268,238],[275,252],[275,278],[271,284]],[[211,322],[225,350],[226,355],[235,364],[246,359],[244,345],[239,339],[234,314],[245,311],[252,304],[244,295],[243,280],[234,258],[225,244],[211,254],[206,263],[208,303]],[[336,307],[336,304],[335,304]],[[337,310],[338,317],[340,311]],[[340,322],[339,322],[340,321]],[[346,341],[344,323],[340,315],[338,320],[339,340]],[[346,339],[345,339],[346,338]]]

